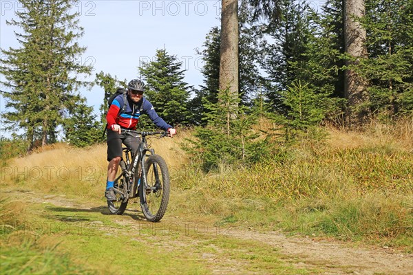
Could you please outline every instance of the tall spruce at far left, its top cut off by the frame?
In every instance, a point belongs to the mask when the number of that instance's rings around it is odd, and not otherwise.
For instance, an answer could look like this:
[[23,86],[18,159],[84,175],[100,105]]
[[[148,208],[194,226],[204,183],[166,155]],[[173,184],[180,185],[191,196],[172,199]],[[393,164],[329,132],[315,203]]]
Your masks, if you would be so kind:
[[2,82],[8,112],[4,117],[10,129],[25,129],[28,149],[34,133],[41,129],[42,145],[63,122],[67,106],[78,99],[76,89],[89,83],[78,74],[90,74],[92,67],[78,63],[85,47],[76,40],[83,35],[78,13],[71,13],[73,1],[20,1],[17,20],[8,21],[23,30],[17,33],[20,47],[1,50],[4,58]]

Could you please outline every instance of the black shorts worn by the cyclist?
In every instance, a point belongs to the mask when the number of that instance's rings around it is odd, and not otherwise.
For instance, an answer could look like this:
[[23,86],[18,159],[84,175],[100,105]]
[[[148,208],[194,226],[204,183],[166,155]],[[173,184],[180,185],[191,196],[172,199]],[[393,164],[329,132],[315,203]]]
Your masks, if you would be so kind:
[[138,150],[140,138],[133,135],[124,135],[107,129],[107,161],[110,162],[115,157],[122,157],[122,144],[132,148],[132,155]]

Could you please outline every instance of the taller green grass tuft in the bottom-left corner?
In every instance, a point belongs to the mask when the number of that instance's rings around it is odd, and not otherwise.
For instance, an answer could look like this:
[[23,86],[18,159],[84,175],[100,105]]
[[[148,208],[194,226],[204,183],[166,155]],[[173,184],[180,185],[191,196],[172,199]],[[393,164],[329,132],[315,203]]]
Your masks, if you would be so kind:
[[10,197],[0,200],[0,274],[92,274],[59,252],[59,243],[43,243],[43,225],[28,207]]

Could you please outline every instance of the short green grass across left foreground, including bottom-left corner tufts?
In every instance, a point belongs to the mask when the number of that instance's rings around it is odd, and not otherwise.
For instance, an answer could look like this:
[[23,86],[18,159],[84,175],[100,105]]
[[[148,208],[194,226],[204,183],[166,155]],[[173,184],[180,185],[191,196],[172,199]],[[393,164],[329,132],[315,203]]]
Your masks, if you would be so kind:
[[161,231],[162,223],[153,230],[105,208],[31,203],[27,214],[33,220],[0,235],[1,274],[211,274],[234,264],[241,273],[309,272],[266,243],[196,227]]

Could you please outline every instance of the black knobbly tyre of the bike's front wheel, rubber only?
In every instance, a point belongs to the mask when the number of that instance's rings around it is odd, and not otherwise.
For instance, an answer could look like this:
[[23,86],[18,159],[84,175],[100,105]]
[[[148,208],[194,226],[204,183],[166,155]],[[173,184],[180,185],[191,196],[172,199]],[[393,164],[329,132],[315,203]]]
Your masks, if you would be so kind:
[[160,198],[160,207],[158,208],[156,213],[152,213],[149,210],[149,206],[147,204],[146,190],[144,190],[145,184],[143,182],[141,182],[139,186],[139,197],[140,207],[142,208],[142,212],[147,221],[156,222],[160,221],[160,219],[162,219],[162,217],[164,216],[165,212],[167,212],[169,202],[169,171],[167,163],[160,155],[150,155],[145,162],[145,171],[147,173],[147,177],[149,168],[151,168],[153,164],[157,164],[158,172],[160,173],[160,178],[162,179],[162,197]]

